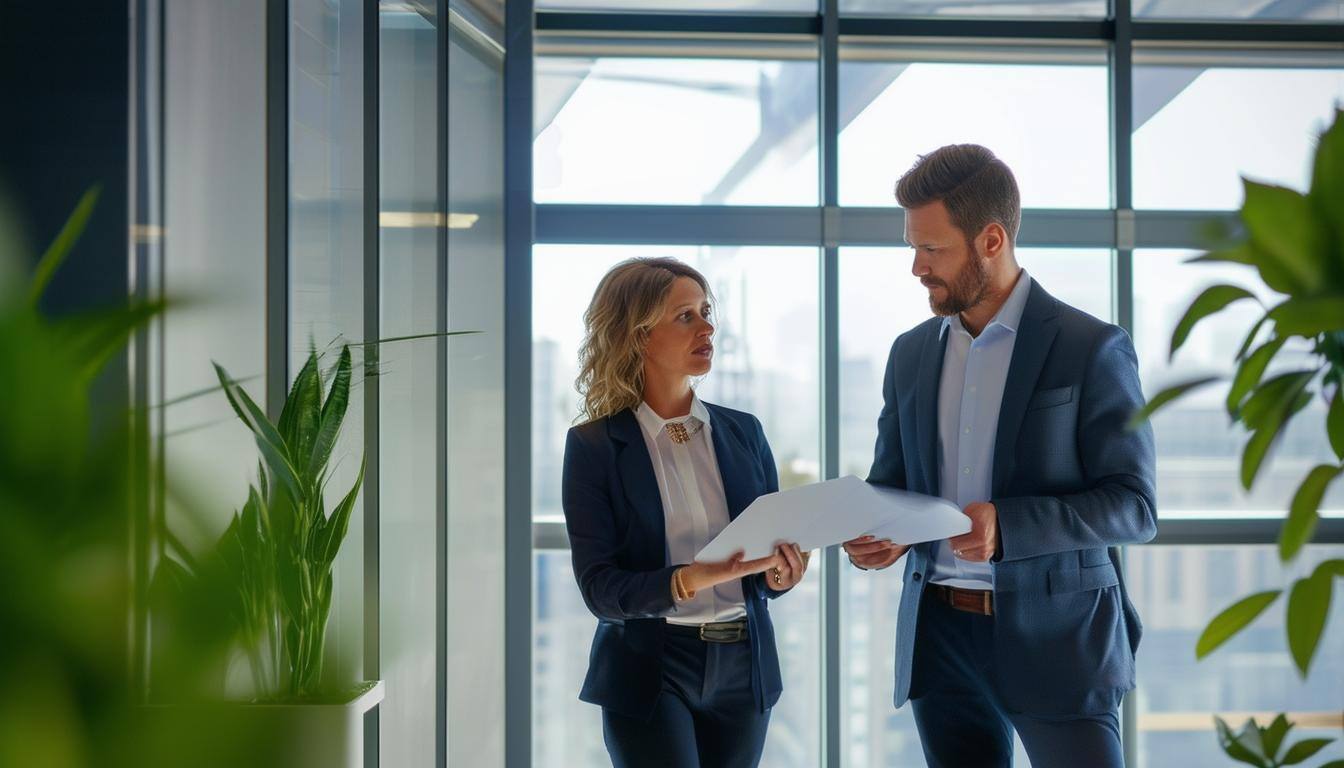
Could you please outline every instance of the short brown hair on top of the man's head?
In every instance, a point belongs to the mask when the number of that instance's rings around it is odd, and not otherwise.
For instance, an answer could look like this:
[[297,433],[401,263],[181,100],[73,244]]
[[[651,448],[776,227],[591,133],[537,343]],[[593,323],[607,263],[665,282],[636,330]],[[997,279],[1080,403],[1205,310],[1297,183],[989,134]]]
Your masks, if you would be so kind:
[[1017,239],[1021,223],[1017,180],[1003,160],[978,144],[939,147],[922,155],[896,182],[896,202],[903,208],[938,200],[968,242],[993,222],[1003,225],[1008,242]]

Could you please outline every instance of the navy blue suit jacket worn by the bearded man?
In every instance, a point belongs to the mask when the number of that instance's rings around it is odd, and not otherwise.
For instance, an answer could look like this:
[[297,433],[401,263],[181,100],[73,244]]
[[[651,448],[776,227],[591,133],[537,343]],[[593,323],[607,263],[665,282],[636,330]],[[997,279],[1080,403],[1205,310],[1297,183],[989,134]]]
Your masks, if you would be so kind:
[[[917,325],[891,347],[870,483],[939,492],[941,321]],[[1142,628],[1116,546],[1157,533],[1152,428],[1125,428],[1142,404],[1125,331],[1032,281],[986,499],[997,508],[1001,542],[991,561],[989,668],[1012,712],[1095,714],[1134,687]],[[911,547],[896,624],[896,706],[910,697],[919,600],[931,569],[930,545]]]

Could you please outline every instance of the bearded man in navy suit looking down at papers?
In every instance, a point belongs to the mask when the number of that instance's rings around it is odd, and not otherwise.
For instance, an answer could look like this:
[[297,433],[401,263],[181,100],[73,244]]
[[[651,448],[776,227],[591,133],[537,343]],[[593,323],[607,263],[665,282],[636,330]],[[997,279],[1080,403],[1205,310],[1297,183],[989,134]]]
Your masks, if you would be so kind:
[[949,145],[896,183],[931,317],[891,347],[870,483],[942,496],[970,533],[845,542],[860,569],[907,551],[895,705],[929,765],[1121,768],[1118,707],[1141,627],[1118,545],[1157,531],[1152,429],[1129,336],[1017,266],[1021,203],[984,147]]

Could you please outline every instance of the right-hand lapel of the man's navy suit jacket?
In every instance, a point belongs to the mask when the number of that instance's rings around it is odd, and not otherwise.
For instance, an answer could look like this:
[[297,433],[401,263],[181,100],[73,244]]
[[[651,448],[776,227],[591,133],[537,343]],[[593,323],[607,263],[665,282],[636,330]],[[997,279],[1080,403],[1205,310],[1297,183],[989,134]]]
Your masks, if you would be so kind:
[[1059,332],[1059,303],[1046,293],[1035,280],[1027,296],[1017,338],[1013,342],[1012,362],[1004,382],[1004,397],[999,406],[999,432],[995,437],[995,469],[992,495],[999,496],[1012,476],[1016,459],[1017,432],[1027,414],[1027,402],[1036,390],[1040,370],[1050,355],[1050,347]]

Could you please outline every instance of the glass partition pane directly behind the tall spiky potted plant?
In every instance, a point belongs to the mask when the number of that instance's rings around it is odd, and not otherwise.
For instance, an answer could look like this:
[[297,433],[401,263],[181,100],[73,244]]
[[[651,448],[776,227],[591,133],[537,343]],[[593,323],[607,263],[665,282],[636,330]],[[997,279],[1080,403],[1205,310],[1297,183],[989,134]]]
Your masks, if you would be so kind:
[[[363,4],[289,4],[289,370],[319,350],[364,338]],[[364,398],[351,397],[332,452],[329,495],[349,488],[364,440]],[[333,508],[340,496],[328,498]],[[356,504],[332,574],[327,647],[332,679],[363,679],[364,511]],[[328,674],[324,671],[324,674]]]

